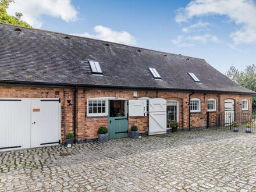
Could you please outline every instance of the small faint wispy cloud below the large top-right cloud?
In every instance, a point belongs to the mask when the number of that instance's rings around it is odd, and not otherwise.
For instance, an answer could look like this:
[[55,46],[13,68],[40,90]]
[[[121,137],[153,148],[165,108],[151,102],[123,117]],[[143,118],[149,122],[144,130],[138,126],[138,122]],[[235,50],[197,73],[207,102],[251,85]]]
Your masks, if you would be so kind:
[[215,42],[215,43],[220,42],[219,38],[216,37],[215,35],[206,33],[204,35],[189,35],[189,36],[179,35],[175,40],[172,40],[172,43],[179,47],[193,47],[196,42],[205,45],[209,41]]

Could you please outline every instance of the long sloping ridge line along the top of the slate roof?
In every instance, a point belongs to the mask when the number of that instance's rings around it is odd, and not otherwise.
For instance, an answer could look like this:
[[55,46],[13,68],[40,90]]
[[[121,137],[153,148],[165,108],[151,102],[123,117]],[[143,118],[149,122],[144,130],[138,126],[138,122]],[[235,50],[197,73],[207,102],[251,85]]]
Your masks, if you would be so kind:
[[12,27],[20,27],[20,28],[29,29],[29,30],[42,31],[42,32],[45,32],[45,33],[53,33],[53,34],[59,34],[59,35],[69,35],[70,37],[84,38],[84,39],[87,39],[87,40],[94,40],[94,41],[105,42],[105,43],[111,43],[111,44],[116,44],[116,45],[122,45],[122,46],[126,46],[126,47],[137,48],[137,49],[144,49],[144,50],[147,50],[147,51],[159,52],[159,53],[162,53],[162,54],[169,54],[169,55],[182,56],[182,57],[184,57],[184,58],[193,58],[193,59],[205,60],[205,59],[203,59],[203,58],[195,58],[195,57],[193,57],[193,56],[187,56],[187,55],[182,55],[182,54],[172,54],[172,53],[170,53],[170,52],[158,51],[158,50],[155,50],[155,49],[148,49],[148,48],[143,48],[143,47],[136,47],[136,46],[126,45],[126,44],[120,44],[120,43],[118,43],[118,42],[111,42],[111,41],[98,40],[98,39],[89,38],[89,37],[81,37],[81,36],[78,36],[78,35],[66,34],[66,33],[61,33],[61,32],[56,32],[56,31],[49,31],[49,30],[44,30],[44,29],[36,29],[36,28],[33,28],[33,27],[16,26],[16,25],[13,25],[13,24],[2,23],[2,22],[0,22],[0,24],[4,24],[4,25],[7,25],[7,26],[12,26]]

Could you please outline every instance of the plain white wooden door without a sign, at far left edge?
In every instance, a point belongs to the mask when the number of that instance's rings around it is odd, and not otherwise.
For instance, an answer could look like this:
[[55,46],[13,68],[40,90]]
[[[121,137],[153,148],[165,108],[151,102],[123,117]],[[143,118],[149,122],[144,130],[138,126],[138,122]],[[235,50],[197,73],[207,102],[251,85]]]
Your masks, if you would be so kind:
[[0,152],[30,148],[30,99],[0,98]]

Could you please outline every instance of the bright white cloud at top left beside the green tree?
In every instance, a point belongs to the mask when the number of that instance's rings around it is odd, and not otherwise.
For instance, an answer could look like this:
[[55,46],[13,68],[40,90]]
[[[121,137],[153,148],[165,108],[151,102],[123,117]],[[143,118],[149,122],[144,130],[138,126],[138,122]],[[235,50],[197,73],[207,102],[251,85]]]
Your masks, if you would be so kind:
[[10,15],[21,12],[22,20],[35,28],[42,26],[42,15],[61,18],[65,22],[73,22],[77,19],[78,14],[71,0],[16,0],[15,3],[10,3],[7,12]]

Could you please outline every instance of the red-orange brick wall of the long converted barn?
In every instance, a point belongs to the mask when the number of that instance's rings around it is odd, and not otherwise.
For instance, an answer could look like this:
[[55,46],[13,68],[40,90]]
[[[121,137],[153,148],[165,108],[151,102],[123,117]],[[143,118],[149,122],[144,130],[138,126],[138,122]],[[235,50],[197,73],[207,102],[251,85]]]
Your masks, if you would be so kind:
[[[108,117],[87,117],[87,99],[95,97],[120,97],[126,99],[137,99],[140,97],[163,98],[168,101],[175,100],[179,102],[179,124],[180,129],[189,127],[189,92],[173,91],[137,91],[137,98],[133,98],[134,90],[109,90],[109,89],[82,89],[77,90],[77,139],[79,141],[97,138],[97,130],[100,126],[108,127]],[[73,105],[67,105],[67,99],[73,104],[72,88],[47,88],[47,87],[25,87],[25,86],[0,86],[0,97],[6,98],[61,98],[62,109],[62,141],[67,131],[73,131]],[[217,112],[224,111],[225,99],[234,99],[234,108],[236,112],[241,112],[241,100],[248,99],[249,112],[251,112],[250,95],[232,95],[232,94],[193,94],[192,98],[199,98],[201,101],[201,112],[191,113],[191,127],[205,127],[205,116],[207,112],[207,100],[216,99]],[[148,116],[129,117],[129,127],[138,126],[140,133],[145,133],[148,128]]]

